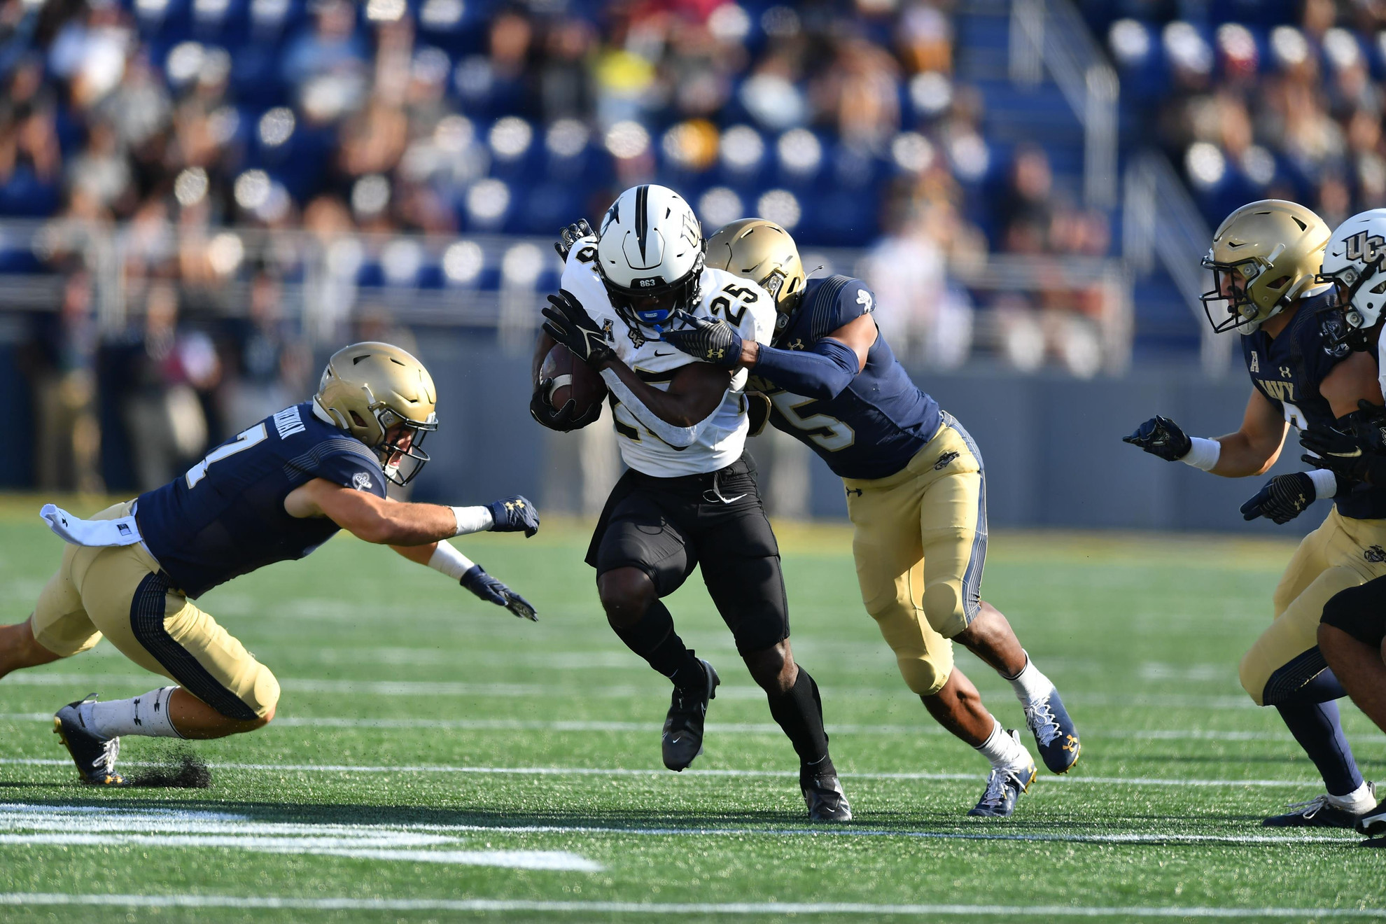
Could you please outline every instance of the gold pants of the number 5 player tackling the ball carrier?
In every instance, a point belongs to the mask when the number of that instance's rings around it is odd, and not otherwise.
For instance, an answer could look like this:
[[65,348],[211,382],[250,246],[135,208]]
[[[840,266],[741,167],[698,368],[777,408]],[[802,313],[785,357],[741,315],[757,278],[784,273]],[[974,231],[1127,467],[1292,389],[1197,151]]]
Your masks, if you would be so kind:
[[844,478],[866,612],[918,694],[952,673],[952,639],[981,605],[987,485],[981,453],[949,414],[904,470]]

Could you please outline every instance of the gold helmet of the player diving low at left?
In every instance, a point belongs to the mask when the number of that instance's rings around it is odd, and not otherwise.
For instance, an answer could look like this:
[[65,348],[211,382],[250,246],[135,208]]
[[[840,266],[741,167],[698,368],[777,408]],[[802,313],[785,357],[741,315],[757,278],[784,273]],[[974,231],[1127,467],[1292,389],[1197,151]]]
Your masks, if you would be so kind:
[[[438,392],[424,364],[389,344],[345,346],[327,360],[313,402],[380,456],[385,478],[407,485],[428,461],[424,435],[438,429]],[[407,474],[399,472],[413,460]]]

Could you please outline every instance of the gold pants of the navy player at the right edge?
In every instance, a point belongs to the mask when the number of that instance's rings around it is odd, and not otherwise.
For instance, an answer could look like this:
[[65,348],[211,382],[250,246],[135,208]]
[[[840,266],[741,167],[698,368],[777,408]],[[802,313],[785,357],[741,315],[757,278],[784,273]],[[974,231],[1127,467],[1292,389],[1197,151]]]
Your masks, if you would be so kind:
[[1275,587],[1275,619],[1242,657],[1238,670],[1256,705],[1274,704],[1324,670],[1318,654],[1324,604],[1339,590],[1386,574],[1383,544],[1386,519],[1351,519],[1337,507],[1304,536]]

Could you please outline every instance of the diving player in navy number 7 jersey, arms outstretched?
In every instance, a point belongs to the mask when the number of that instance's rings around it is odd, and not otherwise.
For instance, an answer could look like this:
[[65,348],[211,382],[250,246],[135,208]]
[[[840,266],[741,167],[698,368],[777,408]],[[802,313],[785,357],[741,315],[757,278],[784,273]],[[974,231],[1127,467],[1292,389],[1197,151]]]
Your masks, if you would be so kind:
[[68,542],[22,623],[0,628],[0,676],[86,651],[104,634],[130,661],[177,686],[130,700],[72,702],[54,731],[87,783],[119,785],[122,734],[219,738],[274,718],[279,682],[193,598],[276,561],[302,558],[338,529],[457,579],[478,597],[534,608],[445,539],[481,529],[534,535],[524,497],[484,507],[396,503],[428,460],[432,378],[388,344],[355,344],[327,363],[312,400],[215,447],[183,477],[91,519],[44,506]]

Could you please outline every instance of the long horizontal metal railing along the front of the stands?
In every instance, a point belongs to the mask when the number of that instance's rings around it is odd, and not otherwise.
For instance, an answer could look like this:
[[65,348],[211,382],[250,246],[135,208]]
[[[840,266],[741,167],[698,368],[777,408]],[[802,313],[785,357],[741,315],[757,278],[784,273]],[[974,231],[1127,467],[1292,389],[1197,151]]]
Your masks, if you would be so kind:
[[[804,263],[868,277],[868,256],[811,248]],[[561,266],[545,238],[0,222],[0,310],[57,310],[78,270],[91,281],[89,310],[107,334],[141,317],[150,287],[165,283],[188,313],[244,316],[255,274],[267,272],[277,280],[279,310],[301,324],[310,345],[340,342],[351,323],[374,320],[493,330],[502,348],[523,350]],[[1052,303],[1055,294],[1099,291],[1102,308],[1089,320],[1099,328],[1102,368],[1119,373],[1130,362],[1131,278],[1120,259],[991,255],[951,265],[948,277],[983,298],[1020,292]]]

